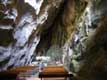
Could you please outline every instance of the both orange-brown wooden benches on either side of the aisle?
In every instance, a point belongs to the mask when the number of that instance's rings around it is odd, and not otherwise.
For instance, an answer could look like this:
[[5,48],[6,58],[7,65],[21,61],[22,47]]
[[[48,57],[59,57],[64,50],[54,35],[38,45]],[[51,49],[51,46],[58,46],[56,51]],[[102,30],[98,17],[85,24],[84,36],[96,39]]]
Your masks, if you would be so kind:
[[[38,68],[37,66],[24,66],[24,67],[16,67],[14,69],[6,70],[0,72],[0,78],[15,78],[20,73],[26,73],[28,70],[34,70]],[[69,73],[63,66],[49,66],[45,67],[43,72],[39,73],[39,78],[52,78],[52,77],[69,77],[70,79],[73,77],[72,73]]]

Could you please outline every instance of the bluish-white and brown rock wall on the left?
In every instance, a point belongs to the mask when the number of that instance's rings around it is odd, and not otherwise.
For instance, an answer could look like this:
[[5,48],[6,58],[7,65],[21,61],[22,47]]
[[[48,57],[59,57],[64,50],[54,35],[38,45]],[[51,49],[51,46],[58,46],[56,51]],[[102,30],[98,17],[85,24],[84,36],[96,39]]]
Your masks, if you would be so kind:
[[52,24],[63,3],[32,1],[0,1],[0,70],[31,64],[41,32]]

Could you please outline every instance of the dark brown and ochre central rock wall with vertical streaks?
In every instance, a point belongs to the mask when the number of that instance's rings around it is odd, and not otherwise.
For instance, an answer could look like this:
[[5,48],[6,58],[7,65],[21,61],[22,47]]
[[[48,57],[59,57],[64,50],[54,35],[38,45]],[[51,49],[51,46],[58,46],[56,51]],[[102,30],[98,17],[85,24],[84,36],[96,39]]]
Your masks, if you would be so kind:
[[[54,45],[62,48],[75,31],[74,25],[77,18],[80,17],[78,13],[82,13],[86,5],[87,2],[84,0],[64,0],[64,3],[62,4],[60,11],[52,25],[42,32],[41,40],[38,44],[36,52],[44,54],[50,47]],[[81,8],[78,9],[80,6]]]

